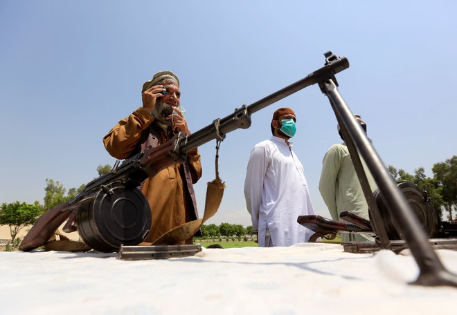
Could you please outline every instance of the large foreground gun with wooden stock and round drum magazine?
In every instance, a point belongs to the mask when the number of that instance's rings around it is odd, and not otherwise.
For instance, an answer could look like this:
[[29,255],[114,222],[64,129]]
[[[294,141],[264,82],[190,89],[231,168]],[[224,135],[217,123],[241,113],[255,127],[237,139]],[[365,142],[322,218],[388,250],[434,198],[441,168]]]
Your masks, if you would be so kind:
[[211,140],[220,142],[227,133],[236,129],[249,128],[253,113],[327,77],[334,78],[336,73],[349,67],[346,57],[340,58],[331,52],[324,55],[325,66],[304,79],[249,106],[235,108],[231,115],[217,118],[191,135],[177,133],[161,146],[138,153],[120,165],[117,161],[109,173],[87,183],[75,198],[44,213],[30,229],[19,249],[31,251],[44,245],[71,213],[73,216],[66,223],[64,231],[78,229],[84,242],[93,249],[110,252],[118,251],[121,245],[138,245],[150,231],[151,211],[147,200],[136,187],[162,169],[184,162],[188,151]]

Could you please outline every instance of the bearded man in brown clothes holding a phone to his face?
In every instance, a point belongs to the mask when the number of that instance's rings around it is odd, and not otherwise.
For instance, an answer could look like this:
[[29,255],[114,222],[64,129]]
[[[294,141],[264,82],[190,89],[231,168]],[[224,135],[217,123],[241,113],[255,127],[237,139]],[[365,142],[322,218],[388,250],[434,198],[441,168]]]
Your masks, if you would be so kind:
[[[160,146],[174,133],[189,133],[180,104],[179,79],[170,71],[156,73],[143,84],[143,106],[120,120],[103,137],[105,148],[114,158],[125,159],[145,149]],[[145,242],[153,243],[164,233],[198,218],[197,202],[192,184],[201,177],[197,149],[187,153],[182,164],[163,169],[147,178],[141,191],[152,211],[152,226]],[[189,238],[185,244],[192,244]]]

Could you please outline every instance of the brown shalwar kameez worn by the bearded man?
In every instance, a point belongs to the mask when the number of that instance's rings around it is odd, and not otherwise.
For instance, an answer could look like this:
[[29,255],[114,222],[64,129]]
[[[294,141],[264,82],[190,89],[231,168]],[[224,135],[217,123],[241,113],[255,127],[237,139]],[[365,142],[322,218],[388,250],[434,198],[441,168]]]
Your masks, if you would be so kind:
[[[105,148],[114,158],[125,159],[148,147],[160,146],[172,137],[167,135],[144,108],[138,108],[120,120],[103,137]],[[197,149],[187,154],[187,161],[163,169],[147,178],[141,191],[149,201],[152,226],[145,242],[154,242],[170,229],[198,218],[192,184],[201,177],[200,155]],[[192,238],[186,240],[192,244]]]

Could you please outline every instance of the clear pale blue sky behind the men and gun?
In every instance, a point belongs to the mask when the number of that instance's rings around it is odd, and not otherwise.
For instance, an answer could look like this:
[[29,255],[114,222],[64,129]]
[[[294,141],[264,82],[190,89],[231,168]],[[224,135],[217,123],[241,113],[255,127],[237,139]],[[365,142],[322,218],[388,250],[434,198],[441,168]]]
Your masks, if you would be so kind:
[[[46,178],[67,189],[114,164],[102,137],[141,106],[159,70],[181,81],[192,131],[348,57],[339,91],[384,164],[413,173],[457,154],[455,1],[0,1],[0,202],[43,202]],[[294,108],[294,151],[316,212],[330,217],[318,183],[339,142],[318,86],[252,117],[222,142],[224,200],[208,223],[250,225],[243,184],[254,144],[271,136],[276,108]],[[200,211],[213,180],[215,143],[199,148]]]

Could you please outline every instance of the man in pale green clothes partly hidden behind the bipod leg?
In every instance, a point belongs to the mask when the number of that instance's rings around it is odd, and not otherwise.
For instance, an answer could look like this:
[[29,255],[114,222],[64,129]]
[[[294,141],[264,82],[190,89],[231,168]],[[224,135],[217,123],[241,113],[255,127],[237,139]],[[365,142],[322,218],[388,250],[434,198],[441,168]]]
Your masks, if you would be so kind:
[[[366,124],[361,117],[355,115],[355,119],[366,132]],[[337,129],[339,136],[344,141],[341,128],[337,126]],[[375,180],[362,158],[361,162],[366,170],[365,173],[370,189],[375,191],[377,189]],[[343,211],[350,211],[368,220],[368,204],[361,189],[354,164],[352,164],[346,142],[333,144],[325,153],[322,162],[321,180],[319,180],[319,191],[321,191],[322,198],[334,221],[343,221],[339,218],[340,213]],[[341,233],[341,240],[343,242],[372,241],[373,238],[356,233]]]

